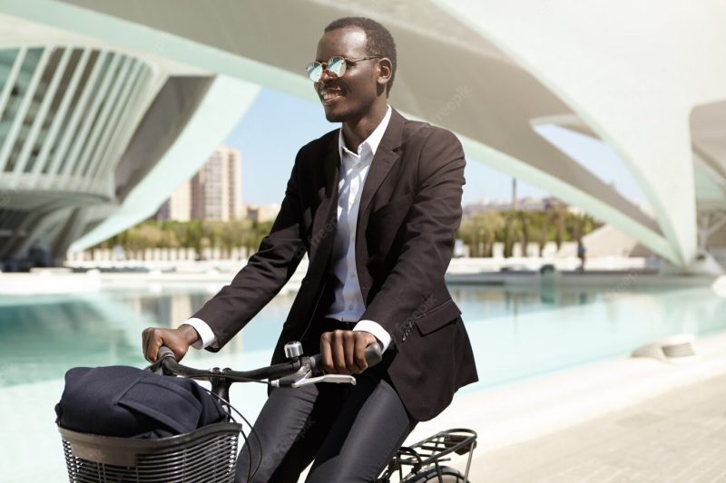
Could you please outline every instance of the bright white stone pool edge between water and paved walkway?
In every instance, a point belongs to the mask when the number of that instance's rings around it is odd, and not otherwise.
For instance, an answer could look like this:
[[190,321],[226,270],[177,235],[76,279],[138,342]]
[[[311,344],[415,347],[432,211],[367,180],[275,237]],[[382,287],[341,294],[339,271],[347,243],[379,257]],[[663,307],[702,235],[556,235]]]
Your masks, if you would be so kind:
[[726,374],[726,332],[694,345],[698,357],[692,362],[623,358],[462,394],[435,420],[419,423],[407,442],[438,430],[469,428],[478,433],[475,457],[481,457]]

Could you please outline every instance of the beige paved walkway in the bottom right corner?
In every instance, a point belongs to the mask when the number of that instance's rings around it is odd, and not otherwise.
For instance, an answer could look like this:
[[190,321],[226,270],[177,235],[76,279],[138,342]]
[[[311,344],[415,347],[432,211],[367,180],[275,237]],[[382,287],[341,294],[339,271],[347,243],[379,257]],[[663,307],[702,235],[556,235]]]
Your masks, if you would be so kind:
[[472,466],[475,483],[726,482],[726,375],[481,451]]

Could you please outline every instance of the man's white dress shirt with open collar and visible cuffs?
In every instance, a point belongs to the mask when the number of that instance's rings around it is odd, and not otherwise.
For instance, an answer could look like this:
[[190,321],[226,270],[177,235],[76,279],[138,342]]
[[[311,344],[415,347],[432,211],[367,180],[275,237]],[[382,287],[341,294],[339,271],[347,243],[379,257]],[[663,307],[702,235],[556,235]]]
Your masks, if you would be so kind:
[[[345,322],[356,322],[365,312],[366,305],[358,284],[358,270],[356,268],[356,227],[358,226],[358,208],[363,186],[366,183],[368,170],[373,157],[378,150],[378,144],[388,128],[391,118],[391,107],[388,106],[386,115],[378,127],[370,133],[366,140],[358,146],[358,152],[348,150],[343,137],[343,130],[338,134],[338,152],[340,156],[340,177],[338,180],[338,226],[333,242],[332,271],[338,278],[335,288],[335,301],[330,305],[326,317]],[[215,344],[216,337],[208,324],[198,318],[191,318],[184,322],[199,333],[200,339],[192,345],[195,349],[202,349]],[[386,351],[391,343],[390,334],[380,324],[361,320],[353,328],[354,331],[372,333]]]

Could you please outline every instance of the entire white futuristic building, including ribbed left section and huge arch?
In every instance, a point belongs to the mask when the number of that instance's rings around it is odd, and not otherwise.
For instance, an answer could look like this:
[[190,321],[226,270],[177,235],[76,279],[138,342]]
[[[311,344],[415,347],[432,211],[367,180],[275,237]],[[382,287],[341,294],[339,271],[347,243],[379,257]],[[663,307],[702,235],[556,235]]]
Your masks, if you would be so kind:
[[[303,66],[323,27],[351,14],[396,37],[391,104],[455,131],[471,159],[673,266],[726,246],[726,11],[715,0],[4,0],[0,258],[39,244],[57,258],[151,216],[261,86],[316,101]],[[609,146],[652,214],[551,128]]]

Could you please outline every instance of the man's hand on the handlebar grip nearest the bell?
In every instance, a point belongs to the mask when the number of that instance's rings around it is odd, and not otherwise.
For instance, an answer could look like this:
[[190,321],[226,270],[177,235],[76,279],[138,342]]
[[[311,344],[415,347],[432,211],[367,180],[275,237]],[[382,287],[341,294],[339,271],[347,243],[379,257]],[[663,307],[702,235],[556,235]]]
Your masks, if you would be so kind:
[[323,369],[331,374],[359,374],[368,369],[366,347],[378,343],[372,333],[332,331],[320,335]]

